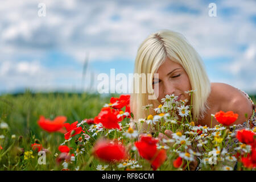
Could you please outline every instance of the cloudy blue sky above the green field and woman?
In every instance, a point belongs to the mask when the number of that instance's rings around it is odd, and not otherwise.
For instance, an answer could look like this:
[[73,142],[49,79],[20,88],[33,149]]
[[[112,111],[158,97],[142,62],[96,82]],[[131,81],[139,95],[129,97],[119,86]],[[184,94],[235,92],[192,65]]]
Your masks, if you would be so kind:
[[95,91],[100,73],[133,73],[143,40],[167,29],[192,44],[211,82],[256,94],[255,7],[250,0],[1,1],[0,93]]

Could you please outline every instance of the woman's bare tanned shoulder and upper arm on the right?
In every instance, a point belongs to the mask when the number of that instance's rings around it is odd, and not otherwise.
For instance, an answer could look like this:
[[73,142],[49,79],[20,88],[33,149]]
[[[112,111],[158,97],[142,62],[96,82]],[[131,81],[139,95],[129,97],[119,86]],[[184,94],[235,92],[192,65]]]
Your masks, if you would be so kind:
[[241,90],[224,83],[211,83],[210,100],[218,106],[218,110],[233,111],[237,113],[238,119],[234,124],[246,121],[245,114],[248,117],[253,112],[253,105],[249,98]]

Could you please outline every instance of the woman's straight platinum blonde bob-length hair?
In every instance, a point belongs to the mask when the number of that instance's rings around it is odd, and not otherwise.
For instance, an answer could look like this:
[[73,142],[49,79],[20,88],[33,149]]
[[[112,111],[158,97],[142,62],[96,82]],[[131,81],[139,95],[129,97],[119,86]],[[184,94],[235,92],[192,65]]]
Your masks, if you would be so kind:
[[[155,73],[166,58],[179,63],[187,72],[193,93],[193,119],[201,119],[209,109],[207,99],[210,94],[210,81],[204,69],[203,61],[196,50],[187,42],[183,35],[170,30],[162,30],[148,36],[138,49],[135,59],[134,73]],[[152,77],[147,80],[152,83]],[[151,84],[149,84],[151,85]],[[148,85],[147,85],[148,86]],[[142,83],[133,87],[142,90]],[[148,100],[148,93],[131,94],[131,112],[134,120],[146,118],[147,112],[142,106],[152,104],[157,107],[158,100]],[[154,110],[150,110],[150,114]]]

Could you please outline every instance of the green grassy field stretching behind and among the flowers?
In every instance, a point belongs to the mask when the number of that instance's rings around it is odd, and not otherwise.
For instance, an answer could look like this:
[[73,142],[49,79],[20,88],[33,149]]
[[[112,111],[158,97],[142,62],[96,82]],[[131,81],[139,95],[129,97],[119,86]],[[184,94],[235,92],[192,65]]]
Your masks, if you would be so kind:
[[[2,136],[0,170],[61,170],[63,166],[56,164],[55,154],[60,153],[58,147],[65,140],[64,134],[43,131],[37,123],[40,115],[49,119],[64,115],[68,123],[81,122],[85,118],[96,117],[102,106],[109,103],[110,97],[112,96],[89,93],[31,93],[30,91],[22,94],[3,94],[0,96],[0,123],[7,123],[8,128],[0,129]],[[118,96],[114,95],[114,97]],[[256,101],[255,96],[251,98]],[[89,126],[86,125],[86,128]],[[81,157],[79,155],[76,162],[70,164],[69,169],[74,170],[79,166],[82,170],[95,170],[97,164],[104,165],[93,159],[90,154],[90,148],[96,139],[97,137],[94,137],[91,142],[84,145],[85,148],[88,147],[88,151],[85,151]],[[38,164],[39,156],[36,153],[33,153],[33,159],[24,160],[24,151],[31,151],[32,143],[40,143],[49,151],[46,165]],[[68,146],[73,148],[73,152],[79,148],[74,140],[69,142]],[[85,154],[86,152],[88,154]],[[174,155],[170,155],[168,159],[171,161],[174,158]],[[150,169],[150,164],[145,160],[140,160],[140,164],[143,170]],[[165,164],[160,169],[174,169],[171,162]]]

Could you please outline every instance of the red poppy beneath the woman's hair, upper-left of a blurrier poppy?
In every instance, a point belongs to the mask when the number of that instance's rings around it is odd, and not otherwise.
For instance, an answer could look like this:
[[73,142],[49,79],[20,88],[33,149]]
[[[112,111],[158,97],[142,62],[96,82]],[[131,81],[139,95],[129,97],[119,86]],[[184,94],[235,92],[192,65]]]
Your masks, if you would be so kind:
[[154,139],[147,135],[142,135],[141,140],[134,143],[134,146],[138,148],[139,155],[142,158],[151,160],[156,154],[157,148],[156,143],[157,139]]

